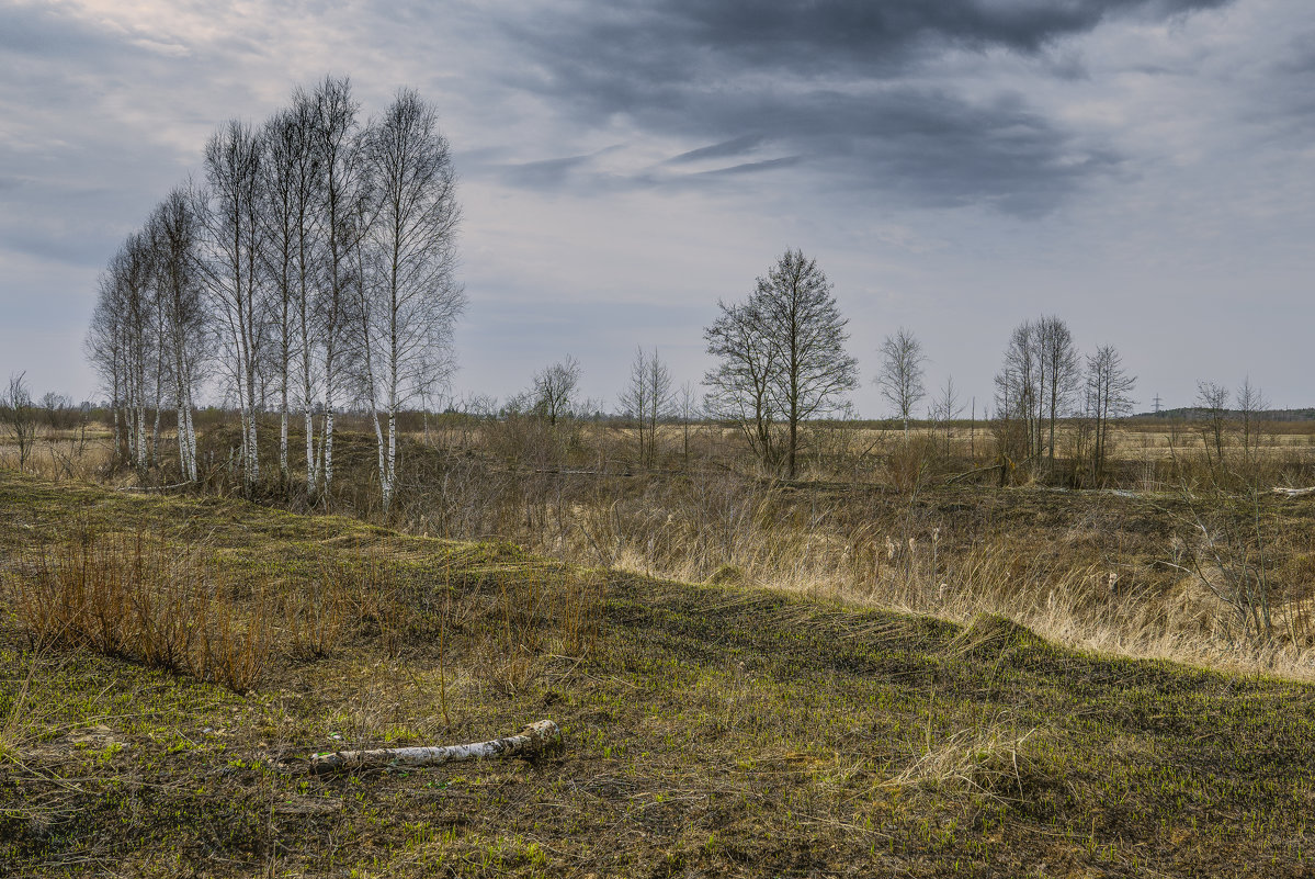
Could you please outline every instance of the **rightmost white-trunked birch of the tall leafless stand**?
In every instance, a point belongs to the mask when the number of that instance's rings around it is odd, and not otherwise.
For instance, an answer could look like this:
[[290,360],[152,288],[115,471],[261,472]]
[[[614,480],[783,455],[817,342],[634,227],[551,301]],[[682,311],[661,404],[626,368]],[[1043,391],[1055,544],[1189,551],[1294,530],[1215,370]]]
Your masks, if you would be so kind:
[[452,326],[466,296],[455,279],[456,175],[438,114],[416,92],[398,92],[371,132],[367,158],[375,207],[364,239],[364,366],[387,512],[397,412],[451,374]]

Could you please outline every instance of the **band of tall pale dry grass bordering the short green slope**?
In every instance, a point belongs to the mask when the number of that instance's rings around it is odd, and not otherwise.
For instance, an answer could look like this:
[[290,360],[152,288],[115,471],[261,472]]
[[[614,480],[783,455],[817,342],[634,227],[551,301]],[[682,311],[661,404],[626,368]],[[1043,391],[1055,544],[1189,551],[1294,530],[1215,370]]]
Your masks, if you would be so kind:
[[[869,495],[713,466],[625,476],[596,463],[572,476],[448,458],[430,488],[416,479],[401,508],[416,530],[498,534],[604,570],[752,584],[964,624],[998,615],[1080,649],[1315,678],[1311,593],[1298,588],[1299,572],[1283,588],[1264,583],[1270,547],[1256,540],[1245,509],[1226,504],[1233,482],[1165,468],[1156,491],[1198,499],[1210,521],[1176,522],[1172,538],[1148,538],[1122,557],[1056,547],[1066,538],[1026,528],[965,533],[959,524],[949,540],[919,500],[928,491],[926,458],[893,455],[884,466],[894,492],[872,507]],[[1134,575],[1147,566],[1153,583]],[[1261,596],[1272,604],[1264,629],[1247,622]]]

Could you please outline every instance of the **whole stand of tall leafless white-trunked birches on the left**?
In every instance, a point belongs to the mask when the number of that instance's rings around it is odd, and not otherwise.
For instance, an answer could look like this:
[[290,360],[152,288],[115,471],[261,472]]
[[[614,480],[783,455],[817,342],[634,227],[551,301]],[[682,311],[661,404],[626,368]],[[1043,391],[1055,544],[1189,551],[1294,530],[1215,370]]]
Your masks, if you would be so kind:
[[[220,126],[204,180],[170,192],[100,278],[87,353],[118,458],[162,463],[171,408],[179,470],[196,480],[196,400],[218,388],[241,417],[245,484],[276,466],[316,496],[333,486],[334,418],[350,408],[372,417],[387,511],[397,413],[455,366],[459,222],[448,142],[414,91],[366,120],[351,83],[326,78],[260,126]],[[262,462],[275,418],[277,461]]]

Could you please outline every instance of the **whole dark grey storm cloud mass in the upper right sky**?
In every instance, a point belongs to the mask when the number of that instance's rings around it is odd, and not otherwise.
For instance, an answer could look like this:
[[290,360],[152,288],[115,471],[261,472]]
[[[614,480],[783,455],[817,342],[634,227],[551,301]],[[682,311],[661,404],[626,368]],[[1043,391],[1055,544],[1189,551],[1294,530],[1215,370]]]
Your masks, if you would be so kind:
[[[622,118],[654,134],[714,141],[668,167],[765,153],[667,182],[805,164],[846,189],[1040,214],[1107,174],[1118,154],[1007,93],[968,97],[961,84],[936,86],[928,72],[936,61],[963,49],[1035,55],[1109,18],[1160,20],[1228,1],[646,0],[508,30],[538,62],[517,84],[577,122]],[[1041,67],[1053,78],[1084,75],[1073,57]],[[644,171],[634,182],[655,179]]]

